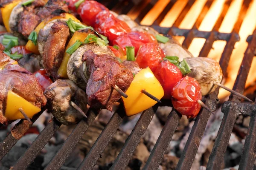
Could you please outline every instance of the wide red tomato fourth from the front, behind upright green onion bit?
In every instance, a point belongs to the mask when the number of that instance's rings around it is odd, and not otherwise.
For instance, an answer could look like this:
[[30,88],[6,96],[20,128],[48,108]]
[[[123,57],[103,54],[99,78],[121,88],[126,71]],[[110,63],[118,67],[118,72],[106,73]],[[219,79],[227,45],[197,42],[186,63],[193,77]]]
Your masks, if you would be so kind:
[[140,46],[149,42],[157,44],[156,38],[151,34],[146,32],[130,32],[128,34],[117,37],[116,40],[113,41],[113,45],[119,45],[124,51],[125,46],[134,46],[136,55],[140,49]]

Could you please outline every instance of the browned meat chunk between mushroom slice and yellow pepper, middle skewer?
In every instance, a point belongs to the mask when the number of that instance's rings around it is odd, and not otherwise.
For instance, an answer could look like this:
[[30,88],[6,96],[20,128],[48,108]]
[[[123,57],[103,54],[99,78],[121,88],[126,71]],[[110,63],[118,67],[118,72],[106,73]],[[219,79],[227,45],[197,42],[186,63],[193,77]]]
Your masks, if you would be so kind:
[[47,38],[43,52],[44,68],[53,79],[58,79],[58,68],[61,65],[70,31],[65,22],[56,22]]

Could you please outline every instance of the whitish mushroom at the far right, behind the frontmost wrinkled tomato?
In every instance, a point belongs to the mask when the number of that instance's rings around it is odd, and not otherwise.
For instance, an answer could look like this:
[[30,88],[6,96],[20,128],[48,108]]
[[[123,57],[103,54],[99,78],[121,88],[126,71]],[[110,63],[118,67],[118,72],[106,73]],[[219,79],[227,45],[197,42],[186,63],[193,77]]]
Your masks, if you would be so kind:
[[202,96],[215,91],[217,86],[213,82],[221,83],[223,76],[219,63],[207,57],[185,58],[185,60],[191,69],[188,76],[199,82]]

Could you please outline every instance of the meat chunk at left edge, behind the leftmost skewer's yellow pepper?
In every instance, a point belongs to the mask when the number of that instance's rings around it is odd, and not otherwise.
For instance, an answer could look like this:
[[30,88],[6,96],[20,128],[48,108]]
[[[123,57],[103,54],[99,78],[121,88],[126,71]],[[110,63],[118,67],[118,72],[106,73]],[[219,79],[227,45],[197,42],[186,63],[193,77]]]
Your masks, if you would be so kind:
[[32,105],[39,108],[46,105],[41,86],[35,76],[21,68],[19,65],[10,64],[13,62],[9,56],[0,51],[0,65],[4,68],[0,71],[0,123],[7,123],[4,117],[8,91],[13,91],[23,97]]

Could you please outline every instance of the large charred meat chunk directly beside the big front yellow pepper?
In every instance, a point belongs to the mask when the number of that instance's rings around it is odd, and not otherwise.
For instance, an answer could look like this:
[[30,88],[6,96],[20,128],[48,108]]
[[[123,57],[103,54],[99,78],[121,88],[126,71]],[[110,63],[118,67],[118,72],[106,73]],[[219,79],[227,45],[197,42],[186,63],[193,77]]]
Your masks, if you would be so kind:
[[97,55],[88,50],[83,54],[82,61],[86,62],[87,75],[90,75],[86,87],[88,104],[92,108],[112,111],[113,104],[121,98],[114,86],[127,91],[133,74],[116,58],[107,54]]

